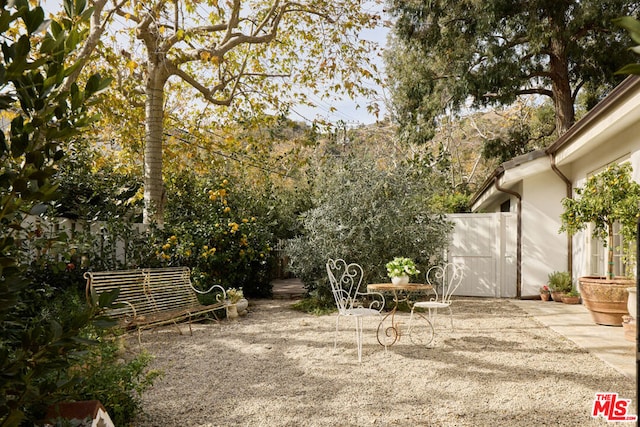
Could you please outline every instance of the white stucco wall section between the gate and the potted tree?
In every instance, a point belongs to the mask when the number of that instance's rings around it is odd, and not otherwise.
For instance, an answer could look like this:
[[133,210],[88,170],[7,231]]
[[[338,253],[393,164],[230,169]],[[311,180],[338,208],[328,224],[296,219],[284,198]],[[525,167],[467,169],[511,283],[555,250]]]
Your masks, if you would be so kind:
[[567,236],[560,229],[566,185],[552,171],[522,183],[522,296],[539,294],[549,273],[567,271]]

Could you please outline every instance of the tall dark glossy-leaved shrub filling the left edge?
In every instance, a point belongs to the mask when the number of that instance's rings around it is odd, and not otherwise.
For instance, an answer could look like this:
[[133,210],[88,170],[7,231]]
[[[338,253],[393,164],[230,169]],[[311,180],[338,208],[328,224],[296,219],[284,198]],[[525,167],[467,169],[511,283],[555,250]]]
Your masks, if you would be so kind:
[[[48,26],[43,25],[44,10],[25,0],[2,2],[0,8],[0,109],[11,120],[0,132],[2,426],[34,425],[48,405],[77,393],[86,378],[69,373],[99,349],[92,348],[97,341],[89,331],[113,326],[100,312],[116,293],[101,295],[97,307],[84,304],[77,292],[78,271],[70,268],[66,233],[45,236],[37,227],[23,229],[30,212],[41,212],[59,196],[57,165],[70,141],[91,122],[84,106],[108,86],[93,75],[82,87],[72,84],[69,91],[62,90],[71,74],[67,60],[82,41],[87,16],[85,3],[67,6],[74,16]],[[49,31],[41,33],[42,28]],[[34,253],[38,256],[32,262]],[[140,390],[149,382],[135,374],[145,363],[141,359],[125,369],[133,374],[129,382]]]

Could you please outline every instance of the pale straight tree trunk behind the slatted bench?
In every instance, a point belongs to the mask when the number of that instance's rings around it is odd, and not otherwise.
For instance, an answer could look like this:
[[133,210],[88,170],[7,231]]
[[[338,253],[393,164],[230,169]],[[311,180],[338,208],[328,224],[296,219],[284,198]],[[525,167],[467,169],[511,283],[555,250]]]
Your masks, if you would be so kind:
[[146,124],[144,147],[144,223],[164,223],[165,192],[162,180],[162,138],[164,84],[161,64],[149,64],[146,82]]

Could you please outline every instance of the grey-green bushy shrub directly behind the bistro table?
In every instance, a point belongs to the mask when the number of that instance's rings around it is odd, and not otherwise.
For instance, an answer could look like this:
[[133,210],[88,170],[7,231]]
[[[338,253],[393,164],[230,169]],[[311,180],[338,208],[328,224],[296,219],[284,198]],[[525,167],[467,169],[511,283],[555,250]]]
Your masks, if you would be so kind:
[[337,158],[314,183],[314,208],[302,215],[303,233],[287,242],[290,269],[317,298],[333,303],[326,277],[328,258],[364,268],[364,283],[387,281],[385,265],[396,256],[418,268],[442,255],[451,224],[434,211],[441,188],[428,158],[378,166],[369,158]]

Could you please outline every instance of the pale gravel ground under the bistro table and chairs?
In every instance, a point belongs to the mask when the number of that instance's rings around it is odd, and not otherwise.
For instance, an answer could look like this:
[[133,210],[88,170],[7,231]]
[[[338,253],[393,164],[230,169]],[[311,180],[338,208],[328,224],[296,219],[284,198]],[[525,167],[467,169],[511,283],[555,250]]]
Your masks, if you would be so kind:
[[[582,306],[460,299],[455,331],[440,330],[431,349],[404,336],[385,352],[370,322],[359,364],[351,322],[341,322],[334,351],[335,316],[291,304],[252,301],[247,316],[196,325],[193,336],[144,332],[142,347],[165,375],[144,395],[136,425],[607,425],[591,418],[597,392],[631,399],[635,414],[635,371],[630,377],[624,363],[603,361],[554,330],[559,317],[538,310]],[[579,316],[570,315],[568,330],[586,338]],[[617,347],[635,363],[633,343]],[[138,349],[133,338],[130,348]]]

